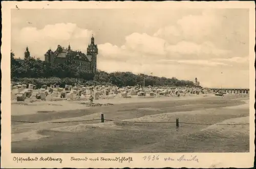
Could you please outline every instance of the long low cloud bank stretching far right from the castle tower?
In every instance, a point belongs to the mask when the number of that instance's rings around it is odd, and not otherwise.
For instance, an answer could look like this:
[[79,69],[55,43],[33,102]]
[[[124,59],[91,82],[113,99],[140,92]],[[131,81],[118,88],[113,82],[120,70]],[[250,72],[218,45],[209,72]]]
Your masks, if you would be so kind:
[[177,56],[179,60],[187,60],[189,57],[190,59],[206,60],[230,53],[229,50],[218,49],[211,42],[196,44],[181,41],[175,45],[170,45],[164,39],[139,33],[126,36],[125,43],[121,47],[110,43],[100,44],[98,47],[99,57],[123,59],[123,61],[132,59],[138,62],[148,59],[174,59]]

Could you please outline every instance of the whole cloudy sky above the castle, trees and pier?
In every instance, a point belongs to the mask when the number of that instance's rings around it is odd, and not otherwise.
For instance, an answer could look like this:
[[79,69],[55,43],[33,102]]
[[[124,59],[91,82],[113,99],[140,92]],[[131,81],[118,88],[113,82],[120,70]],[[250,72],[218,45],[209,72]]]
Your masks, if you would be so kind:
[[[249,87],[249,10],[20,9],[11,11],[11,48],[24,58],[57,45],[86,52],[98,69],[194,80],[203,87]],[[223,72],[221,74],[221,72]]]

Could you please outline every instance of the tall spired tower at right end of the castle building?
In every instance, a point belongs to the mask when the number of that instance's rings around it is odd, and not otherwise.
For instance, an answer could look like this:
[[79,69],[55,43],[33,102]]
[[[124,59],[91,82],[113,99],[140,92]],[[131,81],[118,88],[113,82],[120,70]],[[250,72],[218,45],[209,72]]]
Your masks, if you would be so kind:
[[91,70],[93,73],[96,73],[97,71],[97,54],[98,54],[98,47],[97,44],[94,43],[94,37],[92,35],[91,38],[91,44],[87,47],[87,55],[91,55],[92,61],[91,61]]

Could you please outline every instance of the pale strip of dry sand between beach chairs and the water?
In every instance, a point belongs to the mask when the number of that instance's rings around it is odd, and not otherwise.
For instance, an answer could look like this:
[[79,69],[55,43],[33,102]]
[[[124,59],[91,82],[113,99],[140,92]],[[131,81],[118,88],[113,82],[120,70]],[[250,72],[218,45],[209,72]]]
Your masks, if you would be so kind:
[[[144,102],[157,102],[157,101],[168,101],[168,100],[190,100],[190,99],[203,99],[205,95],[199,96],[182,96],[180,98],[175,97],[138,97],[133,96],[132,98],[121,98],[120,95],[116,97],[109,97],[109,99],[99,99],[94,100],[94,103],[111,103],[111,104],[123,104],[123,103],[144,103]],[[207,97],[215,97],[214,95],[208,95]],[[75,109],[86,109],[89,108],[86,105],[81,103],[89,102],[88,100],[58,100],[58,101],[50,101],[48,98],[46,101],[36,101],[29,102],[29,100],[25,100],[24,102],[17,102],[15,100],[12,101],[12,116],[20,116],[20,115],[30,115],[37,114],[38,112],[50,112],[50,111],[68,111]]]

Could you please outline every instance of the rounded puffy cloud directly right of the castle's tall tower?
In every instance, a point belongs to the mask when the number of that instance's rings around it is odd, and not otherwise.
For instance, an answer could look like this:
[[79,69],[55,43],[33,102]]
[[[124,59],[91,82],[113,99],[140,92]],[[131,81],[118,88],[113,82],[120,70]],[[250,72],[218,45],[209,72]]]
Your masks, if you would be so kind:
[[109,58],[133,63],[145,63],[166,55],[166,41],[147,34],[133,33],[125,37],[125,43],[119,47],[111,43],[98,45],[99,59]]

